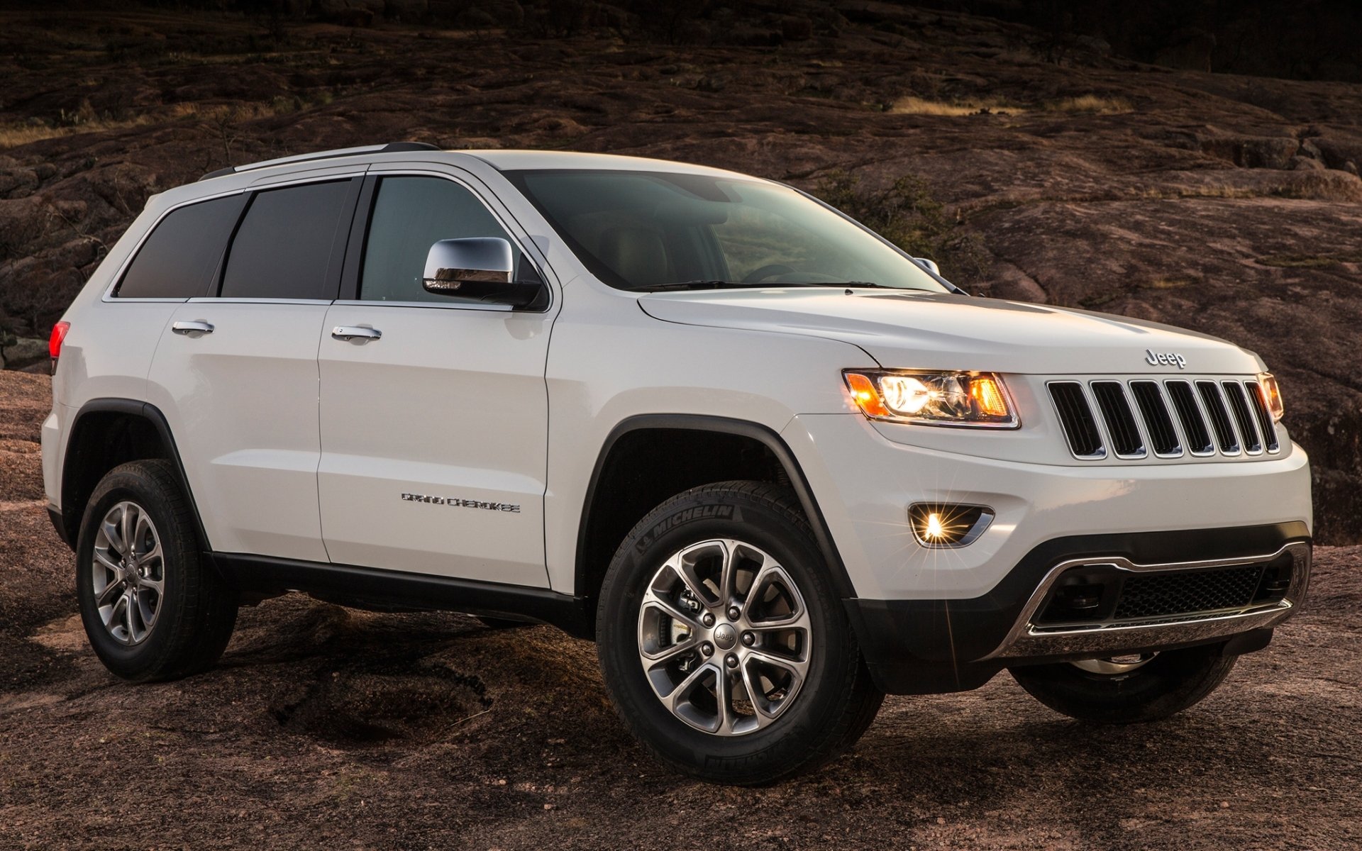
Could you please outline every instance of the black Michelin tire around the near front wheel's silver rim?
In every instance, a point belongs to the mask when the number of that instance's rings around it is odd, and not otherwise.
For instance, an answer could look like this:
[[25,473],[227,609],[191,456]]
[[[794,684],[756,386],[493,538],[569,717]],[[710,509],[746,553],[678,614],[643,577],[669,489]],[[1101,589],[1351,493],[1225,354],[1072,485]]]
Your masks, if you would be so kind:
[[[768,726],[744,735],[706,733],[673,715],[648,684],[639,656],[639,613],[652,576],[673,553],[716,538],[760,547],[786,569],[804,598],[813,636],[795,700]],[[696,487],[639,521],[605,576],[597,649],[614,707],[643,746],[666,765],[715,783],[759,786],[813,769],[855,743],[884,700],[798,500],[764,482]]]

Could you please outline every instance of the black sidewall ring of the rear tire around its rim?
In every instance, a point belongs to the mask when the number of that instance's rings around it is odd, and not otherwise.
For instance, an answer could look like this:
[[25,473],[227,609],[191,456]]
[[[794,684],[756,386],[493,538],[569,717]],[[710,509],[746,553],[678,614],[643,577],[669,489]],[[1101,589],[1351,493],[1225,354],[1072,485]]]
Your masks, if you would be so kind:
[[[138,504],[155,526],[161,538],[165,587],[161,595],[161,609],[151,633],[139,644],[120,643],[105,628],[94,605],[94,543],[98,526],[116,504],[129,501]],[[185,541],[184,532],[170,507],[166,494],[150,477],[133,464],[114,468],[95,487],[80,520],[80,535],[76,542],[76,599],[80,620],[84,624],[90,645],[112,673],[127,679],[143,678],[158,667],[172,652],[174,621],[185,606]],[[191,547],[192,553],[192,547]]]

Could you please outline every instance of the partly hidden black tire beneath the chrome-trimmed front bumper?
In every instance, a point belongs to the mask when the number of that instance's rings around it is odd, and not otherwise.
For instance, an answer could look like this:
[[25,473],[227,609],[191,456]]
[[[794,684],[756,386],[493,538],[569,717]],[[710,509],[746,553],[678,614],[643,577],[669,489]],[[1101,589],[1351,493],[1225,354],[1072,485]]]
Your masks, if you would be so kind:
[[1084,722],[1135,724],[1175,715],[1214,692],[1234,667],[1220,645],[1165,651],[1122,674],[1068,662],[1015,667],[1012,678],[1056,712]]

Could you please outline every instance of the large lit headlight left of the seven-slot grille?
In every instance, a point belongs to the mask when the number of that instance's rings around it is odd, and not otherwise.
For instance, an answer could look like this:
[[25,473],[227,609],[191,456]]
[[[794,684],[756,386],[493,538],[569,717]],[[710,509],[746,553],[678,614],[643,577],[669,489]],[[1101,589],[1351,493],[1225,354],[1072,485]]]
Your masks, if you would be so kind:
[[842,377],[870,419],[986,429],[1020,425],[997,373],[847,369]]

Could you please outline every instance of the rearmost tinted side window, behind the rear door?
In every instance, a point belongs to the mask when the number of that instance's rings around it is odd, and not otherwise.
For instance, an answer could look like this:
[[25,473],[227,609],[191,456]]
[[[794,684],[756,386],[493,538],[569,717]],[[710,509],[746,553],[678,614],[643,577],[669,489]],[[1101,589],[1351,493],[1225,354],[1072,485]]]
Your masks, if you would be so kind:
[[207,295],[244,203],[244,195],[230,195],[170,211],[142,244],[113,294],[118,298]]

